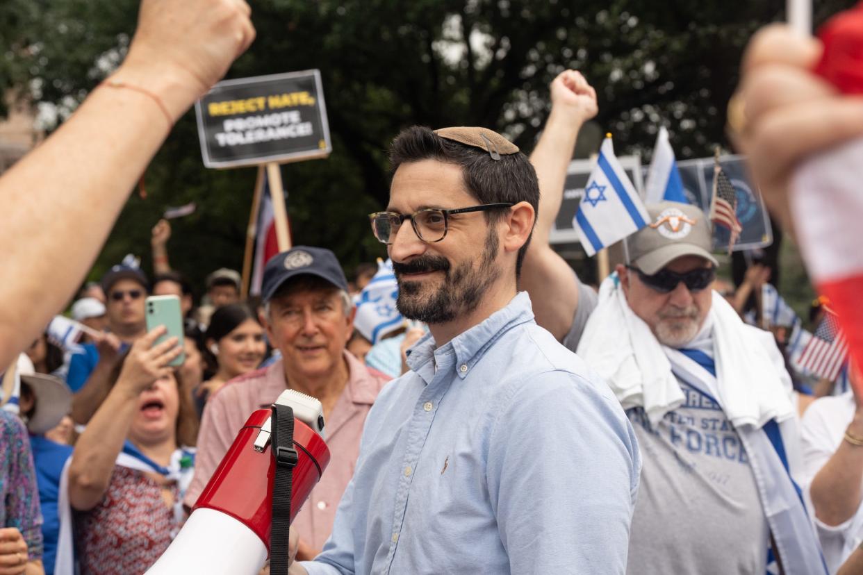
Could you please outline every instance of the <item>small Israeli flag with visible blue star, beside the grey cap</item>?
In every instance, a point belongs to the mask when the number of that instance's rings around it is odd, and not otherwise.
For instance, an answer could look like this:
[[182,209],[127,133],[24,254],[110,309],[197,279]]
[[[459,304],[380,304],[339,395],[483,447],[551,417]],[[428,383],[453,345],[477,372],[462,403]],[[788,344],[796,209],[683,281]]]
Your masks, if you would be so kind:
[[609,135],[599,149],[573,228],[589,256],[647,225],[644,203],[614,156]]

